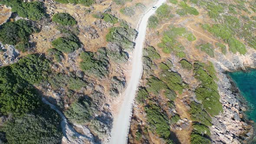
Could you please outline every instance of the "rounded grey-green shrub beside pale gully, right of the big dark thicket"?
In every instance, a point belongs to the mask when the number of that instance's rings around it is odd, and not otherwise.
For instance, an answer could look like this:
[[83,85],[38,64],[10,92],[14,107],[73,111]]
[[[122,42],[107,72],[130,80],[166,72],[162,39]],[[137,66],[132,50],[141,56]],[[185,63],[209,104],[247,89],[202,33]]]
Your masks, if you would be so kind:
[[89,122],[92,116],[89,100],[81,100],[73,103],[64,114],[72,123],[85,124]]

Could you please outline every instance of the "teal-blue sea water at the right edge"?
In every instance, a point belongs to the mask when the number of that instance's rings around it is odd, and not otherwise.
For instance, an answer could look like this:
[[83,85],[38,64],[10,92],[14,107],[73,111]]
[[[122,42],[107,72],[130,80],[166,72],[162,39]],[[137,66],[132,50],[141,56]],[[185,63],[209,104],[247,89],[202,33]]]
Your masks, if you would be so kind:
[[256,69],[250,69],[249,72],[230,72],[229,75],[248,102],[250,109],[246,111],[247,117],[256,122]]

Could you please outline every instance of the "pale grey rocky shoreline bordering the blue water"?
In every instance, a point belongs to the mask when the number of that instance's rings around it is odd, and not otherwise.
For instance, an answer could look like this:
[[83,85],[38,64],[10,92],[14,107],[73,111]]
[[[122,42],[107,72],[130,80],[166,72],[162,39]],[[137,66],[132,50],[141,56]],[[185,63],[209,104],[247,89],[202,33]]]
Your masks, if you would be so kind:
[[253,138],[253,127],[249,124],[249,121],[245,121],[243,115],[246,105],[243,101],[238,100],[241,97],[239,90],[235,88],[235,85],[232,84],[225,73],[226,71],[255,68],[256,52],[253,49],[250,49],[250,51],[244,56],[217,54],[217,58],[214,60],[217,75],[220,79],[217,82],[220,102],[223,105],[223,112],[212,118],[214,125],[210,127],[210,130],[214,144],[240,144]]

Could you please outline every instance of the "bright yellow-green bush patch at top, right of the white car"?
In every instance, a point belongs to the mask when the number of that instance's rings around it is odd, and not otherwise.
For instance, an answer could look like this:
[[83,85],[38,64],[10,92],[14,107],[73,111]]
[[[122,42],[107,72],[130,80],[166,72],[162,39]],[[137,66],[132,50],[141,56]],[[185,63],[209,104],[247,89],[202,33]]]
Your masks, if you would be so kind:
[[196,16],[199,15],[199,12],[197,11],[197,9],[195,9],[194,7],[189,7],[187,3],[184,1],[181,1],[180,6],[182,7],[182,9],[177,10],[176,12],[181,16],[184,16],[187,13],[196,15]]

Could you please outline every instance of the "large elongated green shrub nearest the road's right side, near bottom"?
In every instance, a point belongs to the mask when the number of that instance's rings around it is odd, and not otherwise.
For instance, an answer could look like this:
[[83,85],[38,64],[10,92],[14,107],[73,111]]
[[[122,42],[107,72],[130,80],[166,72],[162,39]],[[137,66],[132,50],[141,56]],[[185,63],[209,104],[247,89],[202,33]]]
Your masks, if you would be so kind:
[[168,139],[170,136],[170,126],[166,115],[161,108],[154,104],[149,104],[145,108],[147,121],[152,131],[155,131],[160,137]]

